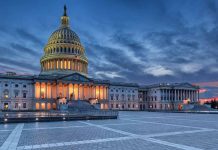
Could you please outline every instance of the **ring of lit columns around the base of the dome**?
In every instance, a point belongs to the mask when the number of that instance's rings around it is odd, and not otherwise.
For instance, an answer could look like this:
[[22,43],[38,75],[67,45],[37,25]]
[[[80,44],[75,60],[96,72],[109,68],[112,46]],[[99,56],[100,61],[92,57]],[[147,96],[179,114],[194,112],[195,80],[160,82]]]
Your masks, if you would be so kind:
[[42,62],[42,71],[74,70],[87,73],[87,64],[75,59],[53,59]]

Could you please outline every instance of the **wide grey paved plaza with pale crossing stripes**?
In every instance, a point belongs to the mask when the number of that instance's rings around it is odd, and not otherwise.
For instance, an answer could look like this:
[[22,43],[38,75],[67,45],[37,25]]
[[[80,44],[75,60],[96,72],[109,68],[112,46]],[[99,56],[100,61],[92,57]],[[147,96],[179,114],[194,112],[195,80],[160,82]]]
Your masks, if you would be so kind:
[[218,115],[120,112],[117,120],[0,125],[0,150],[216,150]]

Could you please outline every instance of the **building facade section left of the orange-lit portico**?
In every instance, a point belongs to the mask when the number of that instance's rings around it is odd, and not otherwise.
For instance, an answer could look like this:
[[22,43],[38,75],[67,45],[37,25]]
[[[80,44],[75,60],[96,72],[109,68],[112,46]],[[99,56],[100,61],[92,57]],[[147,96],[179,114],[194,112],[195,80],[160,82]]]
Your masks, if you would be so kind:
[[15,76],[10,72],[0,74],[1,110],[31,110],[33,95],[31,76]]

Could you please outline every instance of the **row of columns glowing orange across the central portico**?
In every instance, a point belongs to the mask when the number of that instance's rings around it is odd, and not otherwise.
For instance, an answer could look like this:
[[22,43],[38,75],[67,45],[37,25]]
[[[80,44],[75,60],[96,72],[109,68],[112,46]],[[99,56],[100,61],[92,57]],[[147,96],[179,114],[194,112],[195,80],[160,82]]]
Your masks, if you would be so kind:
[[35,84],[35,98],[63,98],[67,99],[107,99],[108,87],[105,85],[72,84],[59,83],[51,84],[37,82]]

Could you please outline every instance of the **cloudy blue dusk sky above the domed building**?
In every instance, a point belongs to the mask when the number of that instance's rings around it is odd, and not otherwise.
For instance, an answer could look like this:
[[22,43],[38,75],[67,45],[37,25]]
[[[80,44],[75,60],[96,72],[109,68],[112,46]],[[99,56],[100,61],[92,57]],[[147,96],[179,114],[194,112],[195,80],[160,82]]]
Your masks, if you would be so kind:
[[144,84],[190,82],[218,97],[217,0],[0,1],[0,72],[39,74],[67,5],[89,76]]

